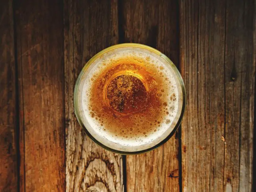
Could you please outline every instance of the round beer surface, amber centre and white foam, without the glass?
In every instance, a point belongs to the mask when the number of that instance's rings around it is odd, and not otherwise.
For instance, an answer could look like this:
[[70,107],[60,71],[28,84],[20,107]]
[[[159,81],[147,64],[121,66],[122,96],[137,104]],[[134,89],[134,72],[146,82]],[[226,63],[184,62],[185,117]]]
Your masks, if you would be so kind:
[[140,51],[119,51],[92,65],[82,103],[98,135],[127,146],[141,145],[172,125],[179,94],[170,67]]

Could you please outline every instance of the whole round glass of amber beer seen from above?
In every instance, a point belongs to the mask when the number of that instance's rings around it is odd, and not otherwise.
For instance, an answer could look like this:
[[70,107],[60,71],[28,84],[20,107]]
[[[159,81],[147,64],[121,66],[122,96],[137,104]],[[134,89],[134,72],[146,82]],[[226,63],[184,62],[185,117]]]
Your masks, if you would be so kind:
[[85,133],[119,154],[148,152],[179,127],[186,105],[182,77],[158,50],[124,43],[106,48],[82,69],[74,109]]

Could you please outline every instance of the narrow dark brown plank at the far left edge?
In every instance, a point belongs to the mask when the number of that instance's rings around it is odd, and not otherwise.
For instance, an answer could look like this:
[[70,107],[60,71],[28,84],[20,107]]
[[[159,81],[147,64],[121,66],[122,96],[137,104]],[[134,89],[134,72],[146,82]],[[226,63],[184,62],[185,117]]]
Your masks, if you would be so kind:
[[17,111],[12,1],[0,6],[0,191],[17,191]]

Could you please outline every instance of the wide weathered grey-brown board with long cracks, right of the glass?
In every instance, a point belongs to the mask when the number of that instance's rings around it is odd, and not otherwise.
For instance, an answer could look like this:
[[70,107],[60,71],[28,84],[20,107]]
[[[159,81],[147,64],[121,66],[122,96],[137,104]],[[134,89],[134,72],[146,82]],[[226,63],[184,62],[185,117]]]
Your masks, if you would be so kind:
[[181,1],[183,191],[252,191],[253,1]]

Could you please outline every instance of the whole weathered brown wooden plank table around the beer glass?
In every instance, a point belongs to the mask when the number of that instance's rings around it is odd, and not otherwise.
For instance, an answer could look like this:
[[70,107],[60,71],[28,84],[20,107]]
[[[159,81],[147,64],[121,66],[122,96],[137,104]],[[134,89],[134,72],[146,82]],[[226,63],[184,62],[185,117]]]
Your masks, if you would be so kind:
[[[255,0],[1,0],[0,191],[255,190],[255,13]],[[102,149],[74,115],[82,67],[123,42],[166,54],[187,92],[175,136],[142,155]]]

